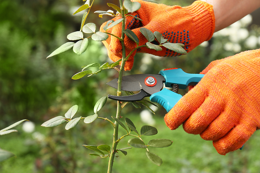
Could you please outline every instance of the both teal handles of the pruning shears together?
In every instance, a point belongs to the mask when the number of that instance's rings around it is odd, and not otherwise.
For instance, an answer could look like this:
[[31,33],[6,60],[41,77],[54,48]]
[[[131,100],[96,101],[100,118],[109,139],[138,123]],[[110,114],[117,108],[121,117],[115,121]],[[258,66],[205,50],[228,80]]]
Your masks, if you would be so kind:
[[[182,69],[162,70],[160,74],[165,78],[165,86],[172,87],[172,84],[178,84],[180,89],[186,89],[190,85],[196,85],[204,74],[189,74]],[[167,112],[181,99],[182,95],[170,91],[166,88],[150,96],[150,100],[159,103]]]

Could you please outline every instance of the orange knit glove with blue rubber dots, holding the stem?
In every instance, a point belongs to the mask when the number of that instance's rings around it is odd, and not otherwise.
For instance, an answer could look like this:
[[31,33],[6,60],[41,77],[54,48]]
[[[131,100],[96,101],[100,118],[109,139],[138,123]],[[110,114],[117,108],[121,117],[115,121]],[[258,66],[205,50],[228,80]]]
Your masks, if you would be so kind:
[[[215,29],[215,17],[213,6],[203,1],[195,1],[187,7],[167,6],[164,4],[155,4],[151,2],[133,0],[141,4],[141,8],[131,15],[136,16],[142,21],[133,17],[127,16],[126,29],[131,29],[139,39],[139,45],[145,45],[147,40],[140,32],[140,27],[145,27],[152,32],[160,32],[165,39],[172,43],[183,43],[184,49],[189,52],[202,42],[209,40]],[[118,20],[121,17],[115,17],[113,20]],[[105,32],[103,27],[106,22],[100,27],[101,32]],[[118,37],[121,37],[122,24],[118,24],[107,31]],[[122,58],[122,46],[116,37],[110,36],[106,41],[103,41],[107,50],[108,56],[113,61]],[[125,36],[126,54],[136,48],[135,42]],[[138,52],[145,52],[163,57],[172,57],[180,55],[172,50],[162,47],[162,51],[152,50],[146,47],[138,49]],[[130,70],[133,66],[134,52],[127,63],[125,70]]]

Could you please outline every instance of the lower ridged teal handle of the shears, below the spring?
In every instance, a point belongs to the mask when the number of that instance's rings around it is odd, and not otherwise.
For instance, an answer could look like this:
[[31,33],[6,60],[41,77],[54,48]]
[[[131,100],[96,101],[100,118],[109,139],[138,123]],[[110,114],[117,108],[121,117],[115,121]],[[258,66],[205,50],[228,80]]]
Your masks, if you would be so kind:
[[150,100],[159,103],[167,112],[181,99],[182,95],[174,93],[166,88],[150,96]]

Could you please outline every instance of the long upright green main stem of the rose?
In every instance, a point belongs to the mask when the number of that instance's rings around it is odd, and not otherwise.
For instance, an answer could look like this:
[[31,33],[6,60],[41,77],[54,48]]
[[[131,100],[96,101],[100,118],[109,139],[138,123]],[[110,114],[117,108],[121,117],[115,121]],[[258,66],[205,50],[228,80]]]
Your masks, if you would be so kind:
[[[117,96],[121,95],[122,76],[123,76],[123,72],[124,72],[125,57],[126,57],[125,44],[124,44],[125,33],[123,33],[123,31],[125,31],[125,9],[123,7],[123,1],[119,0],[119,2],[120,2],[120,7],[121,7],[121,17],[124,20],[122,21],[122,33],[121,33],[122,62],[121,62],[121,67],[120,67],[119,74],[118,74]],[[118,119],[121,118],[121,102],[120,101],[117,101],[116,118],[118,118]],[[111,150],[111,154],[110,154],[109,161],[108,161],[107,173],[112,173],[114,157],[116,154],[116,146],[117,146],[117,140],[118,140],[118,123],[115,122],[114,124],[115,124],[115,126],[114,126],[114,134],[113,134],[113,145],[112,145],[112,150]]]

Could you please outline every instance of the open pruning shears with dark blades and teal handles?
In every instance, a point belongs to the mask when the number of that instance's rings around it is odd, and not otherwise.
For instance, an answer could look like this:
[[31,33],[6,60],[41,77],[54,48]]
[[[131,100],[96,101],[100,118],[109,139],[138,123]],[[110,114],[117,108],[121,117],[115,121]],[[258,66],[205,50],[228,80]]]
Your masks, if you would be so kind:
[[[159,74],[133,74],[122,77],[122,91],[140,91],[127,96],[108,95],[108,98],[118,101],[140,101],[144,97],[150,97],[152,102],[159,103],[167,112],[181,99],[178,89],[186,89],[196,85],[204,74],[189,74],[180,68],[161,70]],[[172,88],[169,90],[164,88]],[[107,82],[107,85],[118,87],[118,78]]]

